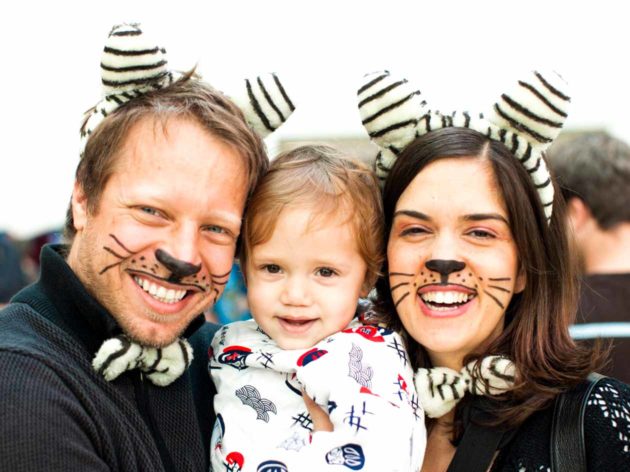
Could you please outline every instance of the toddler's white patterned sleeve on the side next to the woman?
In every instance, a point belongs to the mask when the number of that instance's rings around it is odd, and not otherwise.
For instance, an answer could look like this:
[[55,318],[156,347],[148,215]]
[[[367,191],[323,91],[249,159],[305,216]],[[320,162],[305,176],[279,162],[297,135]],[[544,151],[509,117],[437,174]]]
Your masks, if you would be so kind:
[[[369,325],[344,330],[300,358],[297,378],[329,412],[334,431],[313,433],[300,454],[302,467],[287,464],[289,470],[420,470],[424,414],[396,333]],[[307,460],[310,468],[304,468]]]

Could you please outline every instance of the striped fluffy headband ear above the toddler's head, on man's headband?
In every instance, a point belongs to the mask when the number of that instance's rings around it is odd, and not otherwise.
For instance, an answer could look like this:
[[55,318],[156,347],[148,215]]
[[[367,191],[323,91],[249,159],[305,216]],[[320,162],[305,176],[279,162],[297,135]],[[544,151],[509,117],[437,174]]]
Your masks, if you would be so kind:
[[263,138],[278,129],[295,110],[284,85],[273,73],[245,79],[242,92],[230,98]]

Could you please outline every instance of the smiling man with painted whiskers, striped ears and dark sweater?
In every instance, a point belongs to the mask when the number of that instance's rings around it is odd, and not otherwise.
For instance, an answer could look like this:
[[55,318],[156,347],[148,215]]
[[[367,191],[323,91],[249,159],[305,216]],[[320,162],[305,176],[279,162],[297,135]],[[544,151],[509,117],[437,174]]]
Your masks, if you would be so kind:
[[239,108],[143,41],[137,25],[110,33],[70,244],[45,247],[40,280],[0,312],[3,470],[208,468],[216,327],[202,312],[267,158]]

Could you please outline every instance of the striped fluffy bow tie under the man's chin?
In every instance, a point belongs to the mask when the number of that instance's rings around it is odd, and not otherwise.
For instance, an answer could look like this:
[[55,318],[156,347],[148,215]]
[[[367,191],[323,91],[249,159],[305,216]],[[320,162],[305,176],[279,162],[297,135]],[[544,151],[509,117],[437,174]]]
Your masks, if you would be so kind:
[[192,347],[177,339],[166,347],[146,347],[120,335],[106,340],[94,356],[92,367],[111,382],[127,370],[139,369],[155,385],[173,383],[190,366]]

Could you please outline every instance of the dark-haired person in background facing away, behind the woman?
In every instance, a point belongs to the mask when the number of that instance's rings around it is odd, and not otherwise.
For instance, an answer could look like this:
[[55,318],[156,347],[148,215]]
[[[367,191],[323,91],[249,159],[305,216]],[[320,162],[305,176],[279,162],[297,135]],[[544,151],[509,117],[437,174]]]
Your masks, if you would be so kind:
[[549,159],[584,272],[576,339],[614,338],[605,372],[630,383],[630,147],[603,132],[568,137]]

